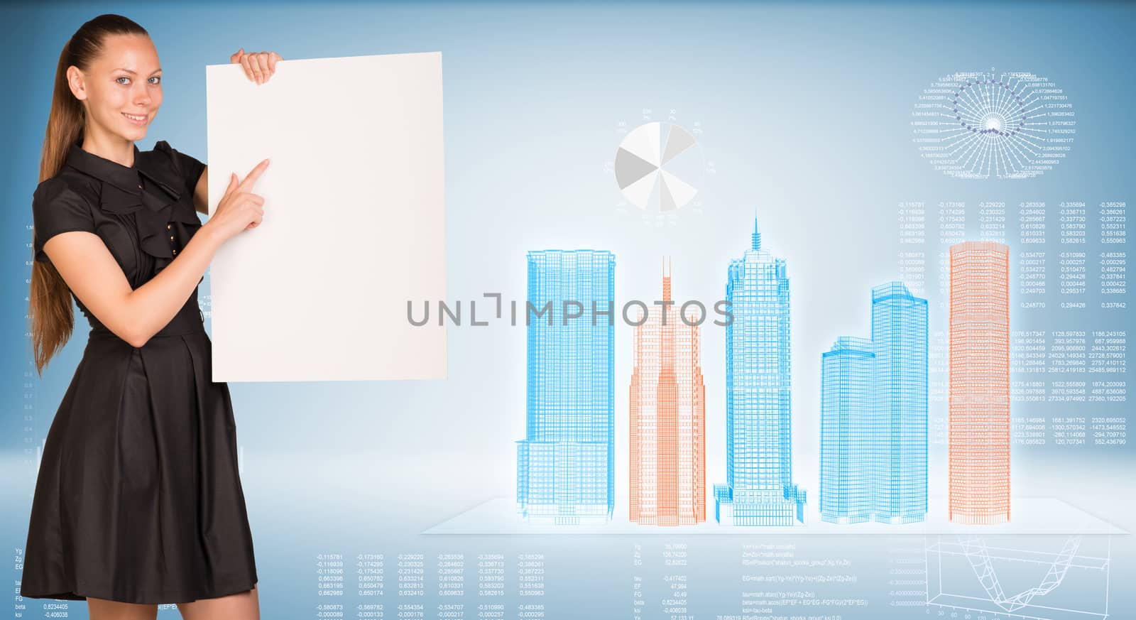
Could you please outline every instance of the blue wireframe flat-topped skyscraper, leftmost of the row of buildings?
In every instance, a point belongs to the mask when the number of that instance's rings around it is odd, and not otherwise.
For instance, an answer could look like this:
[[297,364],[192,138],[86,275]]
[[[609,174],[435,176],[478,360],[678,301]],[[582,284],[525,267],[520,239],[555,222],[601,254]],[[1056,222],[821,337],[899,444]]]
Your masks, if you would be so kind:
[[616,257],[600,250],[528,252],[528,386],[517,442],[517,508],[526,520],[611,519],[615,267]]

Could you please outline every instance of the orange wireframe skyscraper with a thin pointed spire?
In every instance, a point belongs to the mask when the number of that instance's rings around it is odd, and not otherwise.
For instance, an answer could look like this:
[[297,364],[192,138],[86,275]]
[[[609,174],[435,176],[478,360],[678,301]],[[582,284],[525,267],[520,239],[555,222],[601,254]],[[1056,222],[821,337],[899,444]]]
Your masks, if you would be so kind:
[[[636,317],[630,385],[630,520],[685,526],[705,520],[705,385],[699,326],[670,301]],[[703,310],[704,312],[704,310]],[[685,315],[690,322],[701,317]]]

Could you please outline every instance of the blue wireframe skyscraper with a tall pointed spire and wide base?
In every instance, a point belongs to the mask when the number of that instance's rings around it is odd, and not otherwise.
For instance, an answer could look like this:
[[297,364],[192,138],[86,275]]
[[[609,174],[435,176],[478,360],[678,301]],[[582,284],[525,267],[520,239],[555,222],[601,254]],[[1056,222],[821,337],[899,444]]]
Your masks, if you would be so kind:
[[793,484],[790,305],[784,259],[751,248],[729,263],[726,300],[726,484],[715,518],[738,526],[804,522],[805,492]]

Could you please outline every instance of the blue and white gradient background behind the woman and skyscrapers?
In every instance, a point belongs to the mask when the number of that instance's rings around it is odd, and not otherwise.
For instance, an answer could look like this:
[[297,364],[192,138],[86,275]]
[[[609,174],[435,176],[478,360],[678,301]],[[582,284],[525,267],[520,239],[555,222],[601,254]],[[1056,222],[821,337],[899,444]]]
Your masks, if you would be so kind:
[[[35,446],[86,340],[78,316],[66,350],[42,378],[35,377],[25,327],[31,196],[59,50],[100,12],[120,12],[142,24],[161,58],[165,102],[140,146],[168,140],[202,160],[204,66],[227,62],[237,48],[274,50],[286,59],[442,51],[449,301],[468,303],[485,292],[523,300],[527,250],[599,248],[616,254],[617,299],[657,299],[666,253],[673,258],[675,298],[709,307],[724,295],[726,267],[747,245],[757,213],[763,243],[788,263],[794,479],[808,489],[810,511],[819,491],[820,353],[837,335],[864,335],[870,286],[896,277],[896,202],[1003,200],[1009,216],[1018,201],[1084,200],[1092,216],[1100,201],[1134,196],[1136,69],[1130,43],[1124,41],[1136,31],[1136,10],[1122,3],[3,6],[9,36],[0,47],[9,59],[2,68],[9,122],[0,154],[7,206],[0,276],[8,283],[0,298],[6,412],[0,418],[0,537],[8,550],[24,545]],[[1072,150],[1039,178],[953,179],[933,170],[911,143],[910,111],[924,87],[952,72],[992,66],[1047,76],[1075,106]],[[314,87],[324,90],[328,112],[335,114],[336,85]],[[644,225],[620,212],[615,181],[604,171],[620,140],[617,124],[638,125],[644,108],[654,110],[654,120],[674,109],[676,123],[701,122],[700,144],[715,162],[716,173],[700,187],[702,211],[684,212],[675,225]],[[1050,238],[1056,234],[1053,218],[1051,211]],[[968,225],[977,221],[968,218]],[[1006,231],[1012,237],[1014,227]],[[1092,225],[1088,231],[1092,238]],[[928,254],[928,285],[932,261]],[[1091,291],[1093,284],[1091,271]],[[208,286],[201,294],[208,308]],[[294,294],[306,294],[303,282]],[[945,326],[938,301],[932,295],[933,332]],[[286,302],[281,311],[287,311]],[[1074,321],[1054,312],[1029,320],[1043,329],[1092,324],[1129,335],[1134,322],[1127,311],[1080,315]],[[630,334],[617,322],[617,488],[626,485],[623,386],[630,372]],[[315,618],[316,605],[328,602],[316,595],[319,553],[344,554],[349,592],[351,559],[384,553],[387,618],[396,617],[398,553],[426,554],[427,592],[434,583],[432,555],[465,553],[467,618],[476,617],[475,554],[483,552],[506,553],[510,570],[509,554],[544,553],[543,603],[550,618],[630,612],[632,544],[641,542],[655,553],[661,544],[655,531],[617,539],[419,534],[486,498],[511,495],[513,441],[524,436],[524,338],[523,327],[504,322],[452,328],[449,378],[442,382],[231,384],[265,618]],[[725,477],[722,341],[717,328],[703,328],[708,486]],[[1069,414],[1127,416],[1130,407],[1072,409]],[[1016,408],[1013,414],[1031,413]],[[1033,414],[1056,413],[1038,409]],[[942,446],[932,446],[930,459],[935,494],[945,485]],[[1133,464],[1130,447],[1016,446],[1013,489],[1059,497],[1131,530]],[[703,618],[737,613],[738,592],[754,589],[738,581],[741,542],[794,539],[760,529],[690,539],[668,531],[665,538],[691,544],[690,612]],[[885,551],[893,539],[854,536],[854,530],[801,538],[803,556],[847,558],[852,568],[846,572],[860,576],[853,586],[811,589],[863,597],[869,606],[800,613],[926,615],[921,606],[889,606]],[[1039,545],[1060,547],[1062,539]],[[1117,586],[1136,576],[1136,545],[1130,536],[1111,543],[1109,608],[1116,618],[1136,617],[1136,597]],[[18,580],[18,570],[10,575],[9,584]],[[516,575],[507,575],[506,587],[515,592]],[[1086,608],[1100,608],[1099,594],[1084,596]],[[342,602],[353,618],[357,600],[348,595]],[[427,596],[427,617],[434,602]],[[515,596],[507,600],[515,602]],[[9,609],[15,614],[8,604],[0,602],[0,617]],[[43,615],[43,602],[23,604],[24,618]],[[509,604],[506,609],[516,617]],[[82,603],[69,610],[73,617],[86,613]],[[658,613],[657,605],[649,610]]]

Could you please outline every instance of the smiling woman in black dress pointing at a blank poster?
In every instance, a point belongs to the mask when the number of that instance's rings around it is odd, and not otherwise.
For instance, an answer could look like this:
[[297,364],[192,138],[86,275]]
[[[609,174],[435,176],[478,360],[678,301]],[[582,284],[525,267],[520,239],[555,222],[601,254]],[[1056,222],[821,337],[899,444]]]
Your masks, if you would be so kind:
[[[274,52],[231,58],[257,84]],[[36,369],[91,324],[40,462],[20,594],[86,600],[90,618],[259,618],[228,386],[211,382],[198,285],[217,249],[264,217],[261,161],[208,212],[207,168],[134,142],[161,106],[149,34],[118,15],[64,47],[32,202]]]

